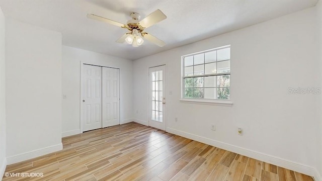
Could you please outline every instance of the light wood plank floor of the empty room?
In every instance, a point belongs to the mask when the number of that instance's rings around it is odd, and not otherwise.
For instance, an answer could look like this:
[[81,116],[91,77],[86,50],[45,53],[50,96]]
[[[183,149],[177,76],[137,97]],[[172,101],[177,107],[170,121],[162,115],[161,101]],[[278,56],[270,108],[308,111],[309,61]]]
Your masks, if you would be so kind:
[[3,180],[313,180],[137,123],[62,138],[63,150],[8,165]]

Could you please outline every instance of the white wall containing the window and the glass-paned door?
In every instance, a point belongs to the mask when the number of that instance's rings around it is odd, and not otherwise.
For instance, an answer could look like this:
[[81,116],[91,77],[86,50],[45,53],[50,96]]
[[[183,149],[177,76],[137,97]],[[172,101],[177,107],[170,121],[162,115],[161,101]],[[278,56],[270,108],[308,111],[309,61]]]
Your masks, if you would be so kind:
[[[148,120],[148,67],[166,64],[167,131],[312,175],[319,164],[320,95],[289,95],[288,88],[321,85],[315,12],[306,9],[135,60],[136,121]],[[233,105],[181,103],[181,56],[229,44]]]

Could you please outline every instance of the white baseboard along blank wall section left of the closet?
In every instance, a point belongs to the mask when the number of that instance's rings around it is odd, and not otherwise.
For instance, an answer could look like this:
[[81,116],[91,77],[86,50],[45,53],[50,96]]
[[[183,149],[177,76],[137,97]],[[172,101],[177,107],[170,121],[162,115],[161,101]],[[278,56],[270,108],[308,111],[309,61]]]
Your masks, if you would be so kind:
[[29,152],[25,152],[25,153],[21,153],[21,154],[17,154],[14,156],[9,156],[7,157],[7,164],[13,164],[13,163],[17,163],[20,161],[25,161],[31,158],[35,158],[38,156],[42,156],[45,154],[49,154],[55,151],[60,151],[62,150],[62,144],[57,144],[57,145],[53,145],[53,146],[48,146],[46,148],[41,148],[41,149],[37,149],[37,150],[33,150],[33,151],[29,151]]

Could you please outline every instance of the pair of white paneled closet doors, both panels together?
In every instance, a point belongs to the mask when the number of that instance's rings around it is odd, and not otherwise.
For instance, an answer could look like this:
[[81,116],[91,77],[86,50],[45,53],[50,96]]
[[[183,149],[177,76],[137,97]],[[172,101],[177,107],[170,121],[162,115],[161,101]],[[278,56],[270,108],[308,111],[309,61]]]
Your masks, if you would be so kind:
[[83,131],[120,124],[119,69],[83,65]]

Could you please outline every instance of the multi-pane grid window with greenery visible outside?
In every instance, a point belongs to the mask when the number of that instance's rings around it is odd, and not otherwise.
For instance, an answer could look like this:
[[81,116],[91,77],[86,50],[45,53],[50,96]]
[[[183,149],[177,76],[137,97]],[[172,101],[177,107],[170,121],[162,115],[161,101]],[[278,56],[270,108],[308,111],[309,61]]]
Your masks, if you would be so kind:
[[230,99],[230,46],[182,57],[183,99]]

